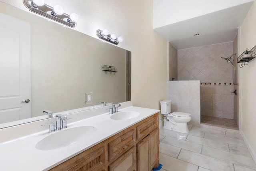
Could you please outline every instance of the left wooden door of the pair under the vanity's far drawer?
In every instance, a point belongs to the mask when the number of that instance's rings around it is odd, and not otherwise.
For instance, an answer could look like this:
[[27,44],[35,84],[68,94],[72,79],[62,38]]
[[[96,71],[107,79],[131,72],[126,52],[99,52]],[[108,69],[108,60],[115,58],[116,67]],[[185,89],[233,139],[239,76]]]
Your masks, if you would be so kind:
[[137,143],[137,171],[150,171],[150,136]]

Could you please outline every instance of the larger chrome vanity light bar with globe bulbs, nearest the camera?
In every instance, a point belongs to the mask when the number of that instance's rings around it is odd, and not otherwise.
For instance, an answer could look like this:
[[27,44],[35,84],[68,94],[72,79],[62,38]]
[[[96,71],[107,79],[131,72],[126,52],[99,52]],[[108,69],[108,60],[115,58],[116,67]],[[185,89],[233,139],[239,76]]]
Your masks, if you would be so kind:
[[70,15],[64,13],[64,9],[60,5],[55,5],[51,7],[44,3],[44,0],[23,0],[23,4],[32,12],[60,22],[69,27],[76,27],[76,22],[79,17],[76,13]]

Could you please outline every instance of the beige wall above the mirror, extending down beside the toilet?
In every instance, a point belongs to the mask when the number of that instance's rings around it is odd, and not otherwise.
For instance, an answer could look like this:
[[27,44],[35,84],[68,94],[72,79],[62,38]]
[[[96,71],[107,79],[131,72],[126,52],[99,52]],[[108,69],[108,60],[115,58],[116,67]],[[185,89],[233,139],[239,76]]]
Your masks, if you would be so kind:
[[[27,10],[22,1],[1,1]],[[75,30],[96,37],[97,29],[108,28],[110,33],[123,36],[124,42],[118,46],[132,54],[133,104],[160,109],[160,101],[168,96],[168,43],[153,30],[153,1],[84,0],[80,6],[74,3],[61,1],[65,12],[79,14]]]

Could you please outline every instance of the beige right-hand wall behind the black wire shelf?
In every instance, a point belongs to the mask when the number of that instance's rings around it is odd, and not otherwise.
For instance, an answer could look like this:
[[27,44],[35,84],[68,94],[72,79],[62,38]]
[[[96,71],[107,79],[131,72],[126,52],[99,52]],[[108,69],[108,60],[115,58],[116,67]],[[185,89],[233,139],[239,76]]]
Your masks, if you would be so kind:
[[[256,45],[256,2],[252,4],[241,26],[241,50],[251,49]],[[256,152],[256,60],[241,69],[241,117],[242,132]]]

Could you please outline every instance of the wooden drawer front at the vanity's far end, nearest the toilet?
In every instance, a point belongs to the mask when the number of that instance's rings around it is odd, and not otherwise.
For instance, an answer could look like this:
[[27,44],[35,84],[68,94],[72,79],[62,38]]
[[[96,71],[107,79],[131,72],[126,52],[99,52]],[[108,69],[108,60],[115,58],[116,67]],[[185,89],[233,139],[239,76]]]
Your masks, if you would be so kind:
[[144,123],[136,127],[137,140],[143,139],[154,129],[159,127],[158,114],[145,119]]

